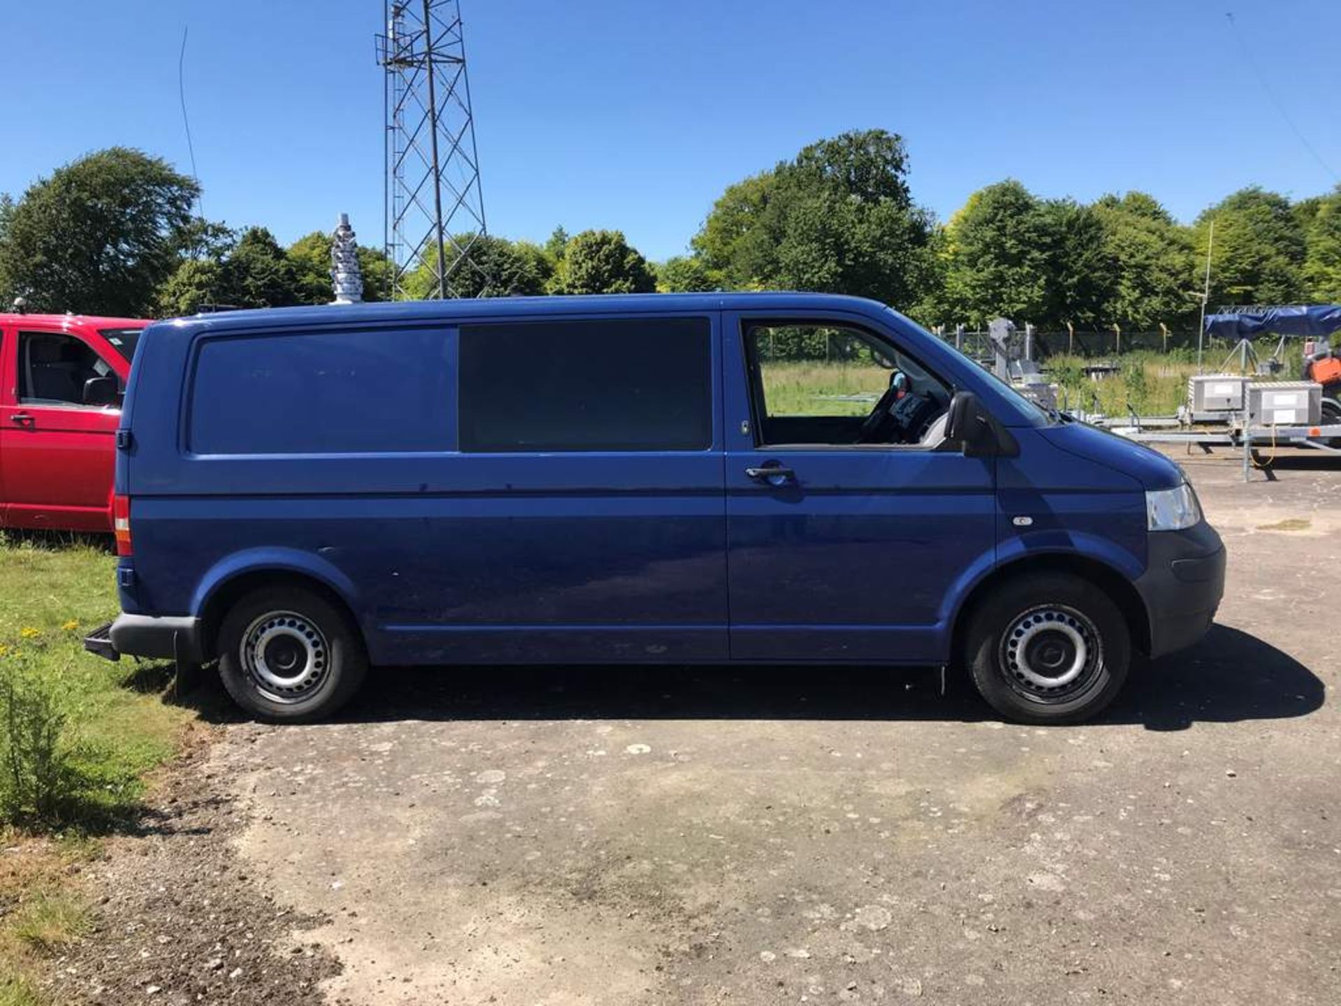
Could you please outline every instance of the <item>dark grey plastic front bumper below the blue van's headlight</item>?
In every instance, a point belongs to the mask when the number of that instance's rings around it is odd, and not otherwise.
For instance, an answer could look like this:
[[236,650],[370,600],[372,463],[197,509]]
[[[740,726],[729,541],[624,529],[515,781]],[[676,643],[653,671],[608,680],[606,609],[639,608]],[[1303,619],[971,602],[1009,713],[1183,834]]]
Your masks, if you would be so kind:
[[1145,573],[1136,589],[1151,625],[1151,657],[1191,647],[1215,620],[1224,596],[1224,543],[1206,520],[1185,531],[1147,535]]

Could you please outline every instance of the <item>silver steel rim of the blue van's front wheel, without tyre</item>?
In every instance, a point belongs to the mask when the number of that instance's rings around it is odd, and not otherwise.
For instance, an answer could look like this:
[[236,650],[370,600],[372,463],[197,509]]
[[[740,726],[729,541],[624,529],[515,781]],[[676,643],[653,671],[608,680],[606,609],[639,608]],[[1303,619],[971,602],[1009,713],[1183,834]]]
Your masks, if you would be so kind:
[[1066,605],[1039,605],[1002,634],[1006,681],[1034,702],[1059,703],[1088,691],[1104,667],[1104,640],[1093,621]]

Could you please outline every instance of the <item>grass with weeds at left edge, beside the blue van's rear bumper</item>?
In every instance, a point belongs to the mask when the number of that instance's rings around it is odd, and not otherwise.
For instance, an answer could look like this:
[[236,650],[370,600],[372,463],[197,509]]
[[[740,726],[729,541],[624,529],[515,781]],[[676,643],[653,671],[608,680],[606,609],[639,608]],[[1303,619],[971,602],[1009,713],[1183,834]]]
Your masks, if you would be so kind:
[[0,533],[0,1006],[50,1006],[34,976],[91,924],[74,867],[134,820],[190,716],[162,675],[83,651],[114,570],[102,539]]

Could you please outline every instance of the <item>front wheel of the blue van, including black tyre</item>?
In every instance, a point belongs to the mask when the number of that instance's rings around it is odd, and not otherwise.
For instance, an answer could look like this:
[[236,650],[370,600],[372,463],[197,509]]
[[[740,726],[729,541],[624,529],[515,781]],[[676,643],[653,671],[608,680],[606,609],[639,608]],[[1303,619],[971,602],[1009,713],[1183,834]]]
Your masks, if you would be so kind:
[[1018,723],[1097,715],[1132,659],[1130,630],[1113,600],[1066,573],[1008,581],[974,613],[964,644],[979,693]]

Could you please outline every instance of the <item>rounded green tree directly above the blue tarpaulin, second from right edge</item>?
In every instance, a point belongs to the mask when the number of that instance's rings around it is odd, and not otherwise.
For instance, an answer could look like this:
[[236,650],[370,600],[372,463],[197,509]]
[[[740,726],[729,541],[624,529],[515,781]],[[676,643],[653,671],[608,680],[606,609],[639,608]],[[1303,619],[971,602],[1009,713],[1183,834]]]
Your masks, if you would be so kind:
[[1204,211],[1192,231],[1204,255],[1211,220],[1211,307],[1281,304],[1303,298],[1305,239],[1290,200],[1254,185]]

